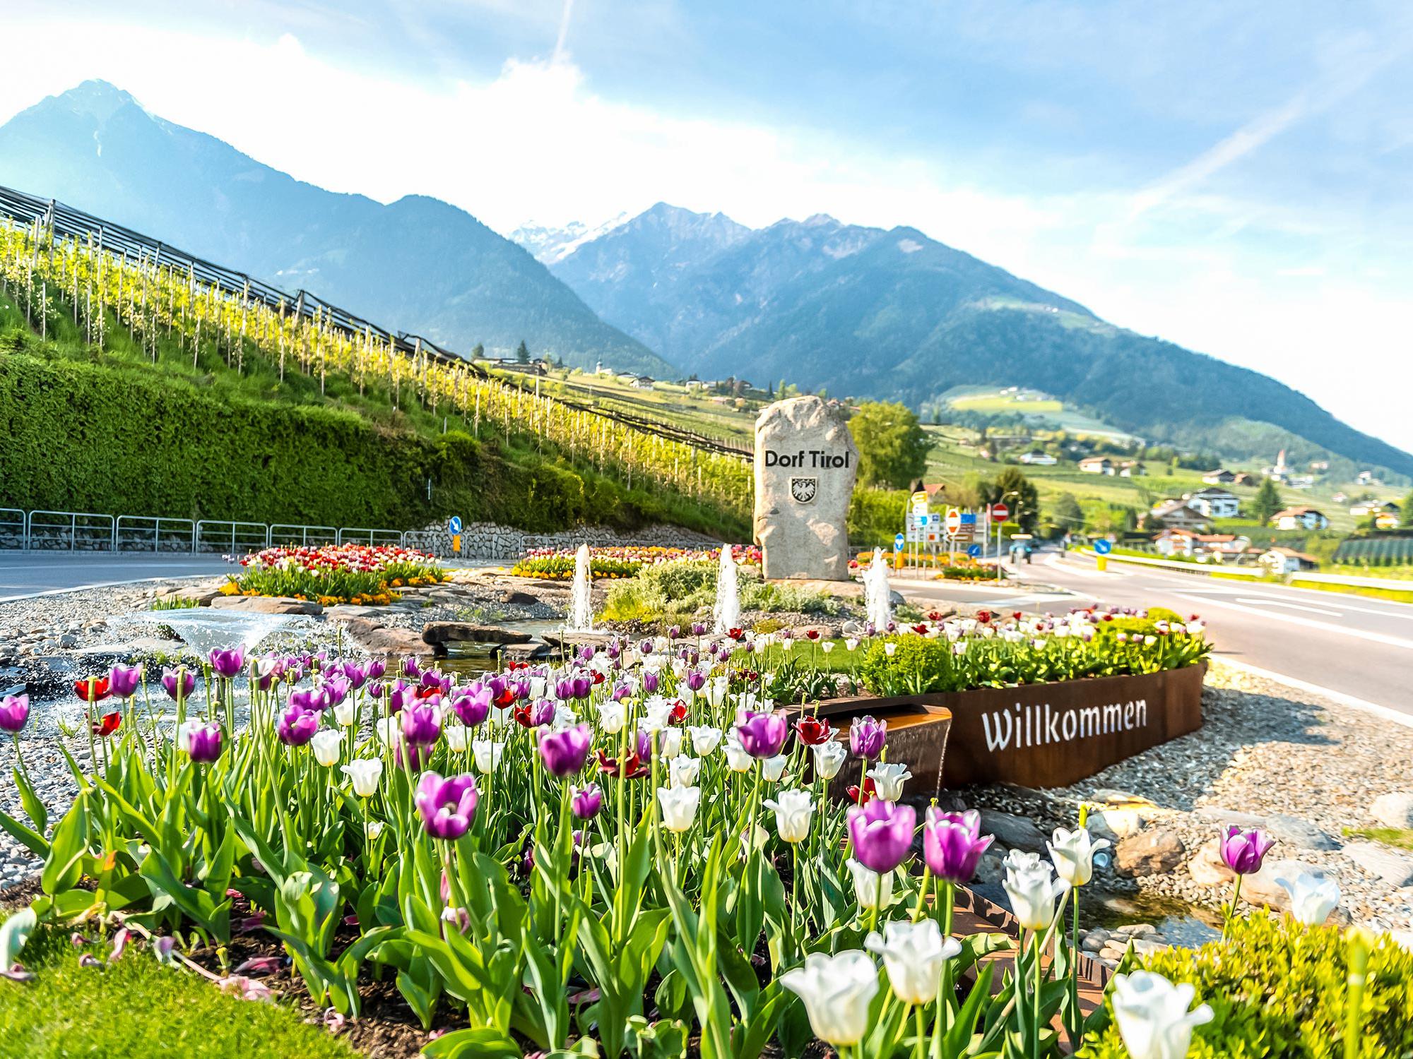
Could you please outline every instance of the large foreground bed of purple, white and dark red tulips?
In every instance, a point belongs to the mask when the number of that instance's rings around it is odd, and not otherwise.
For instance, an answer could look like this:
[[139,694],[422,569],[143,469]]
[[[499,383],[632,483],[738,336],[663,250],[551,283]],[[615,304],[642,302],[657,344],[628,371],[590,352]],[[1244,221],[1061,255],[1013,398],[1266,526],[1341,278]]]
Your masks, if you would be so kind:
[[[972,633],[964,652],[995,638]],[[975,813],[907,802],[885,720],[839,738],[828,717],[774,712],[762,666],[787,650],[691,633],[462,685],[411,659],[394,679],[377,659],[232,648],[201,666],[203,689],[179,669],[81,681],[95,751],[92,765],[69,758],[73,805],[51,820],[21,761],[30,820],[0,815],[45,861],[44,895],[0,932],[0,964],[24,979],[27,935],[81,921],[123,945],[150,933],[164,960],[264,932],[339,1015],[360,1014],[377,976],[424,1027],[465,1024],[428,1043],[434,1056],[682,1056],[690,1039],[716,1059],[824,1043],[853,1059],[1054,1056],[1057,1025],[1108,1034],[1085,1025],[1070,933],[1105,844],[1082,815],[1054,833],[1051,860],[1007,857],[1023,945],[951,938],[955,887],[991,839]],[[0,703],[17,743],[27,720],[27,702]],[[825,785],[846,771],[861,803],[841,810]],[[1229,834],[1222,856],[1249,873],[1266,847]],[[1293,904],[1323,918],[1323,901]],[[259,997],[260,973],[225,977]],[[1115,983],[1128,1048],[1166,1042],[1135,1055],[1181,1056],[1194,1028],[1218,1032],[1166,979]],[[1375,983],[1369,1010],[1406,988]],[[1142,1001],[1159,994],[1153,1014]],[[1349,1011],[1358,1042],[1364,1007]]]

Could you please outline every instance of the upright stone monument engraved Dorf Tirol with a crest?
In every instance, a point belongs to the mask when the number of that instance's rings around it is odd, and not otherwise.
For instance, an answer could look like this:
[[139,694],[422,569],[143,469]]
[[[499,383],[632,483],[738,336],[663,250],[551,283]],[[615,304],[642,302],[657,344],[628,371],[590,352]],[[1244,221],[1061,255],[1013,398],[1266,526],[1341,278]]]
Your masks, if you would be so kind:
[[858,470],[844,414],[822,398],[791,397],[759,415],[755,538],[767,579],[848,579]]

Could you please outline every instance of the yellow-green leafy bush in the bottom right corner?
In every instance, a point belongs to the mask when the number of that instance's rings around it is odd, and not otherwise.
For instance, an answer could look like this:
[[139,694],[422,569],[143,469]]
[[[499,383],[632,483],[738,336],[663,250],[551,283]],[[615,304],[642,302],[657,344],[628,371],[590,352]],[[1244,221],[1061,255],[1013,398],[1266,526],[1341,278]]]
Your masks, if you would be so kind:
[[[1258,914],[1226,943],[1145,957],[1145,970],[1190,981],[1214,1018],[1197,1027],[1191,1059],[1335,1059],[1344,1055],[1348,945],[1334,928]],[[1112,1008],[1105,1005],[1112,1018]],[[1361,1059],[1413,1055],[1413,953],[1385,938],[1369,959]],[[1128,1059],[1118,1028],[1085,1038],[1077,1059]]]

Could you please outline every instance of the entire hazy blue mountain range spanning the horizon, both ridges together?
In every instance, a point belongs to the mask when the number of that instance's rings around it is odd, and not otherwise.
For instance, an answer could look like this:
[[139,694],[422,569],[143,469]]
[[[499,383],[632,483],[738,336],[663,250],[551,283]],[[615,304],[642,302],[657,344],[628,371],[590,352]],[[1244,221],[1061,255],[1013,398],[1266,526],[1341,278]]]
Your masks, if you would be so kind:
[[585,369],[783,380],[914,408],[959,385],[1020,385],[1225,457],[1284,448],[1413,476],[1413,455],[1267,376],[1116,328],[913,227],[817,215],[752,229],[658,203],[506,239],[434,198],[384,205],[297,181],[100,80],[0,126],[0,185],[461,352],[524,340]]

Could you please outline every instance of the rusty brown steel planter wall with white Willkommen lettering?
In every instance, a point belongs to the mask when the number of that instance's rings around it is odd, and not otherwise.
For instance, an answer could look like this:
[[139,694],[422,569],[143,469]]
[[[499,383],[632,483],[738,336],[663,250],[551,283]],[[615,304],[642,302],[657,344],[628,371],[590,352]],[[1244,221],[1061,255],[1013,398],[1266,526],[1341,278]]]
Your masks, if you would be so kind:
[[[911,770],[910,796],[964,784],[1067,786],[1200,729],[1205,674],[1204,662],[1137,676],[827,699],[818,713],[845,740],[853,717],[886,719],[887,760]],[[831,794],[859,782],[853,765],[845,762]]]

